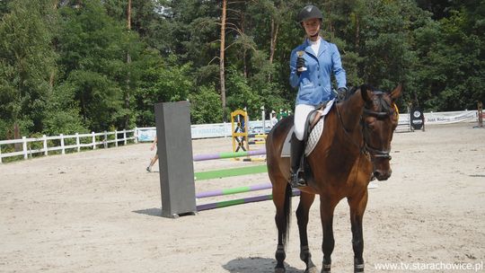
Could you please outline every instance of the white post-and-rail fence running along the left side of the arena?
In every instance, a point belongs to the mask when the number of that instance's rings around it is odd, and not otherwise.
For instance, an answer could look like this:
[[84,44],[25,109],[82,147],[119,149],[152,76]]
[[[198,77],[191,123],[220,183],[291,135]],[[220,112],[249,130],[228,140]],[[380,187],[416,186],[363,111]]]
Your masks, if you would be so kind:
[[[114,136],[114,137],[110,137],[110,136]],[[66,145],[66,139],[75,139],[75,144]],[[61,154],[66,154],[66,150],[69,150],[69,149],[75,149],[77,152],[81,152],[81,148],[83,147],[89,147],[93,150],[96,149],[98,146],[108,148],[110,144],[114,144],[115,146],[118,146],[119,143],[122,143],[123,145],[127,145],[128,141],[130,140],[132,140],[134,143],[138,142],[137,128],[133,130],[122,130],[122,131],[114,131],[114,132],[106,132],[106,131],[102,133],[92,132],[91,134],[75,133],[75,135],[66,135],[66,136],[63,134],[60,134],[60,136],[56,136],[56,137],[47,137],[46,135],[43,135],[42,137],[37,137],[37,138],[22,137],[22,139],[1,140],[0,141],[0,163],[2,163],[2,159],[5,157],[23,156],[23,159],[28,159],[29,156],[32,157],[32,154],[48,155],[48,152],[53,152],[53,151],[61,151]],[[74,141],[70,141],[70,142],[74,143]],[[49,146],[49,144],[51,145],[52,143],[56,143],[56,145]],[[22,149],[19,149],[19,151],[2,154],[2,145],[21,145],[21,144],[22,144]],[[32,144],[35,144],[34,147],[32,147]],[[37,146],[41,146],[41,147],[37,148]]]

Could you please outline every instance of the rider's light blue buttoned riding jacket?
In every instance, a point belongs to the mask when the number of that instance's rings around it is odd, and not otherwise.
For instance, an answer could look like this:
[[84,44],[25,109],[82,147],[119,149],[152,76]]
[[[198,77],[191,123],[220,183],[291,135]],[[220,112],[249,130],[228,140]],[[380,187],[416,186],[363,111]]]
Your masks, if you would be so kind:
[[[321,38],[322,39],[322,38]],[[296,51],[304,50],[306,71],[296,75]],[[318,105],[335,97],[331,92],[331,74],[335,75],[337,88],[347,87],[345,70],[342,67],[337,46],[321,40],[318,56],[314,55],[308,40],[291,51],[290,77],[291,86],[298,87],[296,104]]]

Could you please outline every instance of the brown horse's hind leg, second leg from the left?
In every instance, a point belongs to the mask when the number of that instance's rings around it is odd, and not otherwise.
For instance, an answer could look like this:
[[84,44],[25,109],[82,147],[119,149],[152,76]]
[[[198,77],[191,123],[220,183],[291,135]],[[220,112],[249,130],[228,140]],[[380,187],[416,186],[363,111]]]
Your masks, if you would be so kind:
[[300,233],[300,259],[306,265],[305,273],[317,273],[318,269],[312,261],[312,254],[308,248],[308,234],[306,232],[308,226],[308,215],[310,207],[312,207],[314,194],[302,192],[300,196],[300,204],[296,208],[296,218],[298,221],[298,231]]

